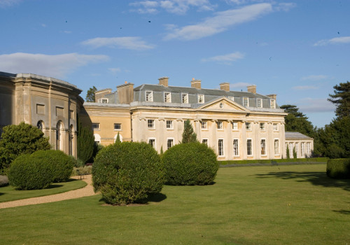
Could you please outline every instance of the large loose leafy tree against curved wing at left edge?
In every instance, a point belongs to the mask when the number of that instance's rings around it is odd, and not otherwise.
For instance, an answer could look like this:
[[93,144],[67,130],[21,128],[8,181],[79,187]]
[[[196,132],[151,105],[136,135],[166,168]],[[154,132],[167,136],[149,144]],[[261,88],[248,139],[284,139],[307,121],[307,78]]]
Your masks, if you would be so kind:
[[19,155],[50,148],[48,138],[45,138],[37,127],[24,122],[3,127],[0,140],[0,169],[10,167],[10,163]]

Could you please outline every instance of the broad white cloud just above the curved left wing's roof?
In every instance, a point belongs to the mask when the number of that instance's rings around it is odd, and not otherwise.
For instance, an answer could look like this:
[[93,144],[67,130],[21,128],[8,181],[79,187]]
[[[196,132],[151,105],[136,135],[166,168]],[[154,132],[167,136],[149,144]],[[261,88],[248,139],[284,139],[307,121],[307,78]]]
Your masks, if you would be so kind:
[[0,55],[0,67],[2,71],[10,73],[34,73],[63,78],[80,66],[107,60],[109,57],[106,55],[80,55],[77,53],[43,55],[15,52],[9,55]]

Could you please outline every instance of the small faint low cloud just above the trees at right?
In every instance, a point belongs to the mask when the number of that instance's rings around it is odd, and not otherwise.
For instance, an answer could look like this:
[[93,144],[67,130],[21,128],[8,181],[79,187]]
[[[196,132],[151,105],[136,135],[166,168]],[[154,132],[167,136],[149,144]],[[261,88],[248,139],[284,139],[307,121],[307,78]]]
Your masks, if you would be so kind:
[[305,98],[297,103],[297,106],[302,112],[333,112],[335,111],[335,105],[328,102],[327,99],[312,99]]

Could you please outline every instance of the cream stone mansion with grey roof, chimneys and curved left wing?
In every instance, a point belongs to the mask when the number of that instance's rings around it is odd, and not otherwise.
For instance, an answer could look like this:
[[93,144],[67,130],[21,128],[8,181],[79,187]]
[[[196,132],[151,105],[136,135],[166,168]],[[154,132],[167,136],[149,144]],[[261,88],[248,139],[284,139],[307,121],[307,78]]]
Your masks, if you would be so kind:
[[[95,102],[84,102],[82,90],[63,80],[31,73],[0,72],[0,129],[22,121],[43,130],[57,150],[76,157],[77,118],[90,127],[95,141],[113,144],[146,141],[158,153],[179,144],[184,122],[190,120],[198,141],[207,144],[218,160],[286,158],[286,146],[299,158],[310,156],[313,139],[284,131],[284,117],[276,94],[262,95],[256,86],[247,92],[204,89],[201,80],[190,87],[132,83],[99,90]],[[290,151],[292,152],[292,151]]]

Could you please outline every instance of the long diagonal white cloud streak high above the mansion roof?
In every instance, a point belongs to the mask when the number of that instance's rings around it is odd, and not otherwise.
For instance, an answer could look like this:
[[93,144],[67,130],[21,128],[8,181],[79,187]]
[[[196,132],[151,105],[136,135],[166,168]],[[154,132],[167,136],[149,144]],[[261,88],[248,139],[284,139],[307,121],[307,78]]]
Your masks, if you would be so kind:
[[172,33],[165,36],[165,40],[194,40],[205,36],[211,36],[225,31],[234,25],[255,20],[261,15],[270,12],[272,12],[272,5],[269,3],[258,3],[243,8],[218,12],[215,17],[207,18],[207,20],[197,25],[175,28]]

